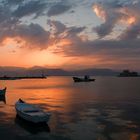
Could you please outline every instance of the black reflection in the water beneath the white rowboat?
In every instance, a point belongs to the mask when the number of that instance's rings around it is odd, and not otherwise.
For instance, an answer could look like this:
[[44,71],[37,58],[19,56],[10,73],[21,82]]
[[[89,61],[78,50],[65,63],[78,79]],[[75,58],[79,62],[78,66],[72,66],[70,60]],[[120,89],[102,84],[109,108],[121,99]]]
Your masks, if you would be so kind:
[[41,132],[47,132],[47,133],[50,132],[50,127],[48,126],[48,124],[46,123],[34,124],[34,123],[31,123],[22,119],[18,115],[16,115],[15,124],[19,125],[21,128],[25,129],[31,134],[38,134]]

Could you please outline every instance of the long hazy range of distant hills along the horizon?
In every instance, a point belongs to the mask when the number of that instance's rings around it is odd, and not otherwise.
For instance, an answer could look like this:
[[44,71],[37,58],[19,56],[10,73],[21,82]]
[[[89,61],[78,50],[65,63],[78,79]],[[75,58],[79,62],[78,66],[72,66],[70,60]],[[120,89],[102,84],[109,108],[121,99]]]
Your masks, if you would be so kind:
[[40,66],[34,66],[31,68],[24,67],[0,67],[0,76],[11,76],[11,77],[20,77],[20,76],[83,76],[83,75],[93,75],[93,76],[113,76],[119,74],[119,72],[111,69],[83,69],[83,70],[63,70],[58,68],[46,68]]

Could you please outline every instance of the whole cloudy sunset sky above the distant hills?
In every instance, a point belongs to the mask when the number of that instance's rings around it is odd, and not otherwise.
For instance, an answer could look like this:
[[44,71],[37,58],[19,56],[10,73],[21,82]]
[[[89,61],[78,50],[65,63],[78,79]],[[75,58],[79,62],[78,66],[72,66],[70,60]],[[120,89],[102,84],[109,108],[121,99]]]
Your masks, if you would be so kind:
[[0,0],[0,66],[140,70],[140,0]]

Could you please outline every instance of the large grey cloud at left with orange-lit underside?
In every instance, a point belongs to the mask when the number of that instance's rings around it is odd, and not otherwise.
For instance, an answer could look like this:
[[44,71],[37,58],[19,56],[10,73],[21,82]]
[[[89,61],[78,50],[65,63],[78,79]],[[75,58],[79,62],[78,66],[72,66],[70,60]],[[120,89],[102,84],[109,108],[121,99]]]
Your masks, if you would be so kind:
[[0,43],[8,37],[20,38],[25,42],[24,47],[47,48],[50,33],[39,24],[22,24],[18,19],[10,17],[10,14],[7,13],[4,17],[1,16],[0,28]]

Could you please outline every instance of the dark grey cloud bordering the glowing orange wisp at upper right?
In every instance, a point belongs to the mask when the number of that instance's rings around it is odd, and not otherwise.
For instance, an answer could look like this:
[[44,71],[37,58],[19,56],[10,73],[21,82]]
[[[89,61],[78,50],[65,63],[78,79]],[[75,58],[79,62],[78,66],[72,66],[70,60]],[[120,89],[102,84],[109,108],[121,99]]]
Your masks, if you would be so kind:
[[113,28],[122,16],[122,14],[117,11],[117,8],[120,7],[122,7],[122,5],[120,5],[118,1],[103,1],[94,4],[93,8],[96,8],[98,12],[100,12],[98,16],[104,20],[103,24],[93,28],[100,37],[104,37],[113,31]]

